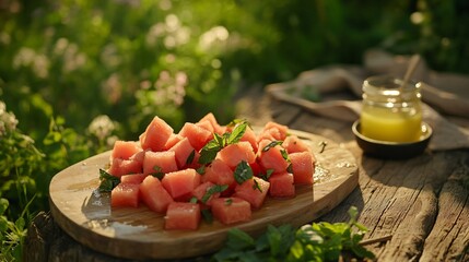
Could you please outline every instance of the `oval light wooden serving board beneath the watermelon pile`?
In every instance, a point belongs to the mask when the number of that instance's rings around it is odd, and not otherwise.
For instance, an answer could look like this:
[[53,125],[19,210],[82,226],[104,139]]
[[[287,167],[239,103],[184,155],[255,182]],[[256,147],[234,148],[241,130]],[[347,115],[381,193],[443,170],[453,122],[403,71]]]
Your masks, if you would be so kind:
[[253,236],[263,233],[269,224],[300,227],[347,198],[359,182],[359,172],[353,155],[339,144],[302,131],[290,132],[302,138],[317,158],[315,184],[296,186],[296,196],[292,199],[267,198],[249,222],[226,226],[202,221],[198,230],[164,230],[164,216],[144,205],[110,209],[109,194],[97,190],[98,169],[108,165],[110,151],[72,165],[52,178],[52,216],[77,241],[128,259],[181,259],[214,252],[223,247],[232,227]]

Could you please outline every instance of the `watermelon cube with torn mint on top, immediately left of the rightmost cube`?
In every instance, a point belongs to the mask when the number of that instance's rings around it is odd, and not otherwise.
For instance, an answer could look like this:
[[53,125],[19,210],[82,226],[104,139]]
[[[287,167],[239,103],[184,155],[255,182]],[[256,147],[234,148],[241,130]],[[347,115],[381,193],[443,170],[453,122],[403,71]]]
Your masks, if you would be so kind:
[[270,142],[269,140],[259,142],[259,164],[265,170],[272,169],[273,172],[283,172],[290,165],[282,155],[284,148],[280,145],[275,145],[265,151]]

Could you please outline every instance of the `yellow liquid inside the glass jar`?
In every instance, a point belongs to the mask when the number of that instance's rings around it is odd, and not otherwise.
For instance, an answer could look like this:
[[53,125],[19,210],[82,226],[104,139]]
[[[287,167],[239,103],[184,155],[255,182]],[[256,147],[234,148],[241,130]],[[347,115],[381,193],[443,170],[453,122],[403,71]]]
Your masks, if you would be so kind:
[[387,108],[365,109],[361,114],[363,135],[388,142],[414,142],[422,134],[422,112],[391,111]]

